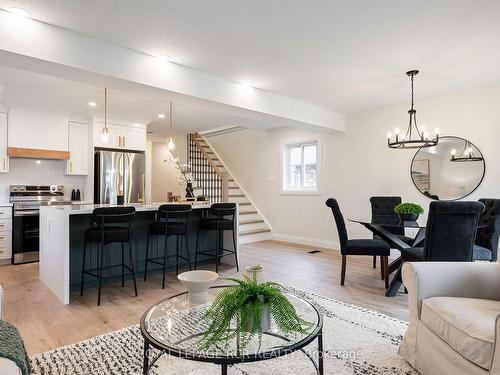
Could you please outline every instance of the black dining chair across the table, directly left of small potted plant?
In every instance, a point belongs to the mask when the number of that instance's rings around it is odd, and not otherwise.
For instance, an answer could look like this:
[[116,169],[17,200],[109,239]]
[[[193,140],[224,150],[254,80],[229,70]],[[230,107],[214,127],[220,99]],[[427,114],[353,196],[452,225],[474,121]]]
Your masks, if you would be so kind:
[[[401,219],[397,213],[394,212],[394,207],[401,203],[401,197],[380,196],[371,197],[370,204],[372,206],[372,223],[373,224],[386,224],[384,229],[390,233],[395,234],[401,241],[411,245],[413,238],[405,236],[405,229],[400,224]],[[381,240],[376,234],[373,235],[374,239]],[[389,243],[392,247],[392,244]],[[377,267],[377,257],[373,257],[373,268]]]

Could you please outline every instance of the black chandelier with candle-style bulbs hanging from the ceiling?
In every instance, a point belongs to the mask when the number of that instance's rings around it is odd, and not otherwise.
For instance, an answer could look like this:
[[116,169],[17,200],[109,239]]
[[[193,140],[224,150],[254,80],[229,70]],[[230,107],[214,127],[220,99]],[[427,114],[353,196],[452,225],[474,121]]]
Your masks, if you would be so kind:
[[387,133],[387,146],[390,148],[406,149],[406,148],[423,148],[432,147],[439,142],[439,129],[434,130],[434,138],[431,138],[425,128],[418,127],[417,125],[417,111],[413,107],[413,77],[418,74],[418,70],[410,70],[406,75],[411,80],[411,108],[408,111],[410,115],[410,122],[406,132],[401,133],[398,128],[392,132]]

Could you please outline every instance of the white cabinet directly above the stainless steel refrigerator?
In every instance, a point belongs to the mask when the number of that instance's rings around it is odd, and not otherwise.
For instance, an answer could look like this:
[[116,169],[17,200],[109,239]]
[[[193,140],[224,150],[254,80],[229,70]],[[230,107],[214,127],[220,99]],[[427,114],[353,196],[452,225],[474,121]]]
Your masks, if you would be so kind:
[[109,142],[103,143],[101,130],[104,123],[94,123],[94,146],[134,151],[146,151],[146,128],[108,123]]

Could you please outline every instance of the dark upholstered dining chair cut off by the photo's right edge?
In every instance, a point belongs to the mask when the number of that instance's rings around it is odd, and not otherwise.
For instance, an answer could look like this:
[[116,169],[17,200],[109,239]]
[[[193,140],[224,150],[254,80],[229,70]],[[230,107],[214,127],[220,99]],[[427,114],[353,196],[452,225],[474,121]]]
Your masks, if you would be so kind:
[[474,260],[495,262],[500,237],[500,199],[481,198],[485,206],[479,218],[479,228],[474,245]]

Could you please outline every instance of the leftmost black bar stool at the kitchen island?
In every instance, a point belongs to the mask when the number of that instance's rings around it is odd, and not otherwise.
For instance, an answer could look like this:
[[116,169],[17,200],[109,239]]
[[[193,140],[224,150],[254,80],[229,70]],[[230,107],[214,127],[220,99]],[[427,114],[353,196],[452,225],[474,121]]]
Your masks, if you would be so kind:
[[[97,306],[101,305],[102,271],[109,268],[122,268],[122,287],[125,285],[125,269],[132,273],[134,280],[134,291],[137,297],[137,284],[135,282],[134,262],[132,260],[132,219],[134,218],[134,207],[101,207],[94,209],[90,229],[85,231],[85,243],[83,246],[82,279],[80,295],[83,296],[83,282],[85,274],[96,277],[99,280],[99,294]],[[87,244],[90,243],[90,266],[92,267],[92,244],[97,244],[97,267],[85,269],[87,256]],[[104,266],[104,249],[106,245],[121,243],[121,264]],[[125,264],[125,243],[128,244],[129,264]],[[100,246],[99,246],[100,245]],[[97,273],[95,273],[97,271]]]

